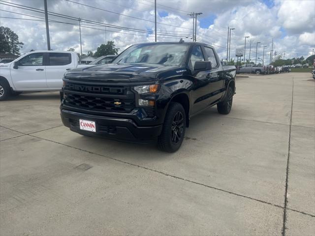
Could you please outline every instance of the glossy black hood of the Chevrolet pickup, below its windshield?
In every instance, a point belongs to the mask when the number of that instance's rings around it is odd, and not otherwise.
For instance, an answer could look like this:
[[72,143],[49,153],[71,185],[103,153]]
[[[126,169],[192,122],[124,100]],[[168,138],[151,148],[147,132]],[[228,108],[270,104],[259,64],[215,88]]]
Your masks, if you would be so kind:
[[76,68],[65,73],[64,78],[78,81],[104,82],[149,82],[155,81],[158,73],[176,70],[179,66],[159,64],[106,64]]

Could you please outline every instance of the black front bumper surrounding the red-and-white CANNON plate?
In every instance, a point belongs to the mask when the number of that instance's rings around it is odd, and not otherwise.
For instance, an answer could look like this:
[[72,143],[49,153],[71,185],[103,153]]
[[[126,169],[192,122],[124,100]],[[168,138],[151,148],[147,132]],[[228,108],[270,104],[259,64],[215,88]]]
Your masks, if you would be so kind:
[[[151,144],[162,131],[162,124],[156,126],[138,126],[129,118],[88,115],[64,109],[61,110],[61,118],[66,127],[79,134],[132,143]],[[95,121],[96,132],[81,130],[79,119]]]

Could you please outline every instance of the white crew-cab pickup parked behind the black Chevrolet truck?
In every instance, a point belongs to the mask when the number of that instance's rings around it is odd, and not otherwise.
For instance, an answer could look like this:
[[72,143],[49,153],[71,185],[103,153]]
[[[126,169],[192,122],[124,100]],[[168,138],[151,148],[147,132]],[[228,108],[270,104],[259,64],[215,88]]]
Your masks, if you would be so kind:
[[0,101],[23,91],[60,90],[63,74],[79,65],[74,52],[33,51],[0,65]]

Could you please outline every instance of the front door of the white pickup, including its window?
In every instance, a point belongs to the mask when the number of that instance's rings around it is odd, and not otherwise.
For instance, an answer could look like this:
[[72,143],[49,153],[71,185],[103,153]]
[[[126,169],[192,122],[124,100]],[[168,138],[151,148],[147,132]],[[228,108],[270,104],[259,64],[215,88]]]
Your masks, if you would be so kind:
[[47,89],[44,53],[31,53],[17,61],[18,68],[11,65],[11,78],[16,90]]

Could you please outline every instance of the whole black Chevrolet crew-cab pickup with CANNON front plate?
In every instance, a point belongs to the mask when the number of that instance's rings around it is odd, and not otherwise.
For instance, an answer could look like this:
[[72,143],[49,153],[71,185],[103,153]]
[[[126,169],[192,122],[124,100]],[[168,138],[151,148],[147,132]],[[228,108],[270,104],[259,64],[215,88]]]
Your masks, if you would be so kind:
[[180,148],[189,119],[217,105],[231,110],[235,66],[222,66],[212,46],[135,44],[111,64],[69,70],[61,90],[61,118],[86,136]]

